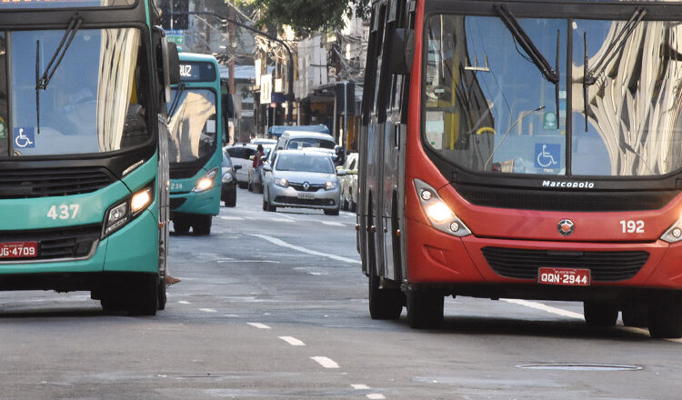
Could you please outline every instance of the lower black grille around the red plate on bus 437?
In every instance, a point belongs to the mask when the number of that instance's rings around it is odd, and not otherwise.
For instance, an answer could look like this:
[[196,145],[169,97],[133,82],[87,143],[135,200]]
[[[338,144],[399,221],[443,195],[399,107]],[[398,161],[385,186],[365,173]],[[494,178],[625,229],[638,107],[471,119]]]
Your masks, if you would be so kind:
[[37,257],[7,259],[0,261],[0,264],[17,261],[58,261],[60,259],[83,258],[90,254],[101,234],[102,225],[22,232],[0,231],[0,242],[37,242],[38,244]]

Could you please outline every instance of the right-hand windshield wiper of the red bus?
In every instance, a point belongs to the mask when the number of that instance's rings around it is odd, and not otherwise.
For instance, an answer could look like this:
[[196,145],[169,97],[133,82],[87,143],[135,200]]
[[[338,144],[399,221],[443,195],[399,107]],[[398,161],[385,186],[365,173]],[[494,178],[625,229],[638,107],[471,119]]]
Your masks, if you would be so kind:
[[633,32],[635,32],[635,28],[639,23],[642,21],[642,18],[644,18],[644,15],[647,15],[647,9],[646,8],[637,8],[635,11],[635,14],[630,16],[630,19],[627,20],[626,25],[623,25],[623,28],[620,29],[620,32],[618,32],[618,35],[614,37],[611,42],[607,45],[607,52],[604,54],[604,56],[598,61],[597,65],[594,65],[592,68],[589,67],[589,55],[587,54],[587,32],[583,33],[583,47],[585,51],[585,60],[583,64],[583,103],[584,109],[585,109],[585,132],[587,132],[587,116],[590,113],[590,108],[589,108],[589,99],[587,98],[587,86],[595,85],[597,83],[597,78],[604,74],[604,70],[606,70],[607,65],[613,60],[613,58],[620,52],[620,50],[625,46],[627,42],[627,38],[632,35]]

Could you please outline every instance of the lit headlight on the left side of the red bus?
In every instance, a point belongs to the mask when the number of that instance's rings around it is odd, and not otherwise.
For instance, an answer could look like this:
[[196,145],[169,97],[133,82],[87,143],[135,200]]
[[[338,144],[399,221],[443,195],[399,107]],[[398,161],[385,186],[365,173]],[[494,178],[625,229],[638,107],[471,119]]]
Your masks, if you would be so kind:
[[471,235],[469,228],[440,198],[436,189],[419,179],[415,179],[415,188],[422,210],[433,227],[448,235],[459,237]]

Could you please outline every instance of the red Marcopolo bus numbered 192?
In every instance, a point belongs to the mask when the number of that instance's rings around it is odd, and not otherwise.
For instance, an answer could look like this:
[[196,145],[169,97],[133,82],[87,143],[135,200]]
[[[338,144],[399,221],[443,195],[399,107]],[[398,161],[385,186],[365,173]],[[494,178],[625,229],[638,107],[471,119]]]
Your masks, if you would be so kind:
[[380,0],[359,138],[370,315],[583,302],[682,336],[682,2]]

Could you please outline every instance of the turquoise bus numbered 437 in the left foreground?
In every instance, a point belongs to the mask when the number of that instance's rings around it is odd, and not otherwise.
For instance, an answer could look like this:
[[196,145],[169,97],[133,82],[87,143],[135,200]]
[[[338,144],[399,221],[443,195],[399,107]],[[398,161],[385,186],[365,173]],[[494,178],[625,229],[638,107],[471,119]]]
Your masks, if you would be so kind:
[[0,290],[165,306],[165,99],[179,79],[148,0],[0,2]]

